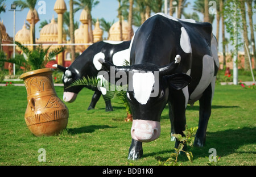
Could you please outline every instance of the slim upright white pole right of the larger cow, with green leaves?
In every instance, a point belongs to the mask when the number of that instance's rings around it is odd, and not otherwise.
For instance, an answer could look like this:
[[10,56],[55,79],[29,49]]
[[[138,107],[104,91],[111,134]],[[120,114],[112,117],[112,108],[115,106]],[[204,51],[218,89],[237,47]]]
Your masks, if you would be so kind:
[[235,5],[235,8],[236,8],[236,10],[235,10],[235,14],[234,14],[234,16],[235,16],[235,20],[234,20],[234,35],[235,35],[235,37],[234,37],[234,48],[235,48],[235,53],[234,53],[234,58],[233,58],[233,84],[234,85],[238,85],[238,69],[237,69],[237,54],[238,54],[238,52],[237,52],[237,44],[238,44],[238,34],[237,34],[237,22],[236,22],[236,16],[237,16],[237,5],[236,5],[236,3],[234,3],[234,5]]

